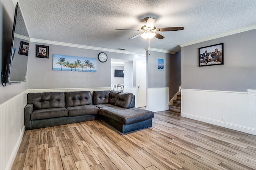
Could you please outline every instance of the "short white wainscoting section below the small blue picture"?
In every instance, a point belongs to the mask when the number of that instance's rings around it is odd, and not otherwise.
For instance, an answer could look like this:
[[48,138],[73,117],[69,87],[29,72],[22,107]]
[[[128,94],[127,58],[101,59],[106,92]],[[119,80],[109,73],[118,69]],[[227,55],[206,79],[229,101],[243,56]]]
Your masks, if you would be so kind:
[[147,88],[147,110],[169,110],[169,88]]

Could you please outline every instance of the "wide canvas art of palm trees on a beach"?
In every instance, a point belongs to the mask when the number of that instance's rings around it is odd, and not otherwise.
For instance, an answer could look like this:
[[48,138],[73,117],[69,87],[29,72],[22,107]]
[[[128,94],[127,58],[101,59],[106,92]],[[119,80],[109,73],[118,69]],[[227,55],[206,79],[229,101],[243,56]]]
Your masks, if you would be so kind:
[[96,72],[95,58],[53,55],[52,70]]

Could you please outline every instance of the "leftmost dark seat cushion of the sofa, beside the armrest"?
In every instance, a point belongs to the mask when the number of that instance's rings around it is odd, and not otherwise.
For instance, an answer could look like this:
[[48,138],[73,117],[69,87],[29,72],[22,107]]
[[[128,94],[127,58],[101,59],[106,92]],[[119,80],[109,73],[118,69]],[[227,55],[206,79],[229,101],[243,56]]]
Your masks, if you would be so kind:
[[39,109],[34,110],[31,115],[31,120],[48,119],[54,117],[68,116],[68,110],[65,107],[50,108],[50,109]]

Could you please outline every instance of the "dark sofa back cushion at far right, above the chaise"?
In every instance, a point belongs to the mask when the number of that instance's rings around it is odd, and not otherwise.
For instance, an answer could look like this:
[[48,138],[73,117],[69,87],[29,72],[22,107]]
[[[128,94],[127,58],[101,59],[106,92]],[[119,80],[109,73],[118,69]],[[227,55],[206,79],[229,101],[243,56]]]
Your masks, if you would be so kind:
[[132,93],[120,93],[116,101],[116,106],[128,109],[131,106],[132,98]]

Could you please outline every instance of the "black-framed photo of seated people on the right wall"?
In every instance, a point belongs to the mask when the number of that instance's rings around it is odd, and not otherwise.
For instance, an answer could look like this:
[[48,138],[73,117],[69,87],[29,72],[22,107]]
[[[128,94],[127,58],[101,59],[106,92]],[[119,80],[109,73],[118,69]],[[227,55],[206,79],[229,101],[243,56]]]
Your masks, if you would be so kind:
[[224,64],[223,43],[199,48],[199,66]]

